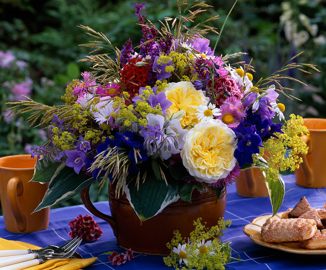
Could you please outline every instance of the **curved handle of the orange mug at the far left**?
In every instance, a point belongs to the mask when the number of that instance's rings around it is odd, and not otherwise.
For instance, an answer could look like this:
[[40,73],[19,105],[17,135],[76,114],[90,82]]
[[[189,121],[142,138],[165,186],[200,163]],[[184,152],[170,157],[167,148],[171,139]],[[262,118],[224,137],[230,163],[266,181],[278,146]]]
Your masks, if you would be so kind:
[[22,196],[23,185],[22,180],[13,177],[9,180],[7,184],[7,197],[10,210],[16,220],[16,226],[18,231],[23,232],[26,230],[26,218],[19,208],[18,197]]

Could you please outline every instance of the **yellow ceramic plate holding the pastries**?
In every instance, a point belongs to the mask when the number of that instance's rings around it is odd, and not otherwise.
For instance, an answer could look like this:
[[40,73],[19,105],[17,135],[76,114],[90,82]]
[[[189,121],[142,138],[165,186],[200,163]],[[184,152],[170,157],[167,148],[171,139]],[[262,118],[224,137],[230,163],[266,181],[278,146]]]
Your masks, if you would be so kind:
[[[281,218],[282,213],[277,213],[273,218]],[[260,228],[265,223],[266,219],[271,215],[265,215],[254,218],[251,223],[244,226],[244,234],[256,244],[263,247],[270,247],[290,253],[309,254],[309,255],[326,255],[326,249],[305,249],[300,246],[297,241],[293,242],[279,242],[279,243],[266,243],[261,236]]]

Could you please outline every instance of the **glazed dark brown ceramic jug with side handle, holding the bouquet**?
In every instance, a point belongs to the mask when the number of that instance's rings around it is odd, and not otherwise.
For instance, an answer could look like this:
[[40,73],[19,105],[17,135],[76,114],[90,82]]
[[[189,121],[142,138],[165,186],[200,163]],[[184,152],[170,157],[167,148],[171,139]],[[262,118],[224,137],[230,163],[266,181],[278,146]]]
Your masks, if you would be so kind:
[[126,195],[115,198],[114,185],[109,188],[109,205],[111,216],[99,212],[89,198],[89,187],[82,190],[82,201],[86,208],[96,217],[106,220],[112,227],[119,247],[147,255],[168,255],[170,250],[166,243],[173,237],[173,231],[179,230],[183,237],[188,237],[195,228],[193,221],[198,217],[207,222],[208,228],[217,225],[220,217],[224,217],[226,207],[226,189],[215,203],[215,195],[209,187],[195,189],[192,201],[179,199],[169,204],[161,213],[142,223],[134,209],[126,199]]

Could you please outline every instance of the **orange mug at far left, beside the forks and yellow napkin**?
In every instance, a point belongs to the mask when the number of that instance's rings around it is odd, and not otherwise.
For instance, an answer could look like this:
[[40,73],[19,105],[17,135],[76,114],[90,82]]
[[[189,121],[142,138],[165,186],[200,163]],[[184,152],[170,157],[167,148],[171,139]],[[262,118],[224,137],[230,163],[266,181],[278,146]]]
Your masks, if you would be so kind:
[[5,228],[9,232],[35,232],[49,226],[50,207],[32,214],[49,183],[29,182],[36,158],[16,155],[0,158],[0,199]]

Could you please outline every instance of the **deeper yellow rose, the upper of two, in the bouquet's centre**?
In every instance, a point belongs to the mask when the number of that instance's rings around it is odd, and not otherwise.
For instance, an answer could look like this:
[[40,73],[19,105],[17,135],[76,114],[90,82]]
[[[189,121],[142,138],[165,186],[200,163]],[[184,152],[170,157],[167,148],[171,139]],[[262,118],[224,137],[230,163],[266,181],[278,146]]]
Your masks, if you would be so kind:
[[173,113],[185,110],[185,115],[179,119],[181,127],[198,123],[196,110],[199,105],[207,104],[203,91],[196,90],[190,82],[169,83],[165,88],[165,95],[172,102],[165,119],[169,119]]

